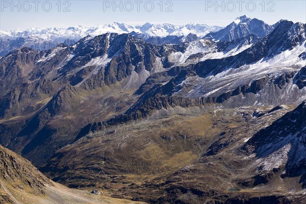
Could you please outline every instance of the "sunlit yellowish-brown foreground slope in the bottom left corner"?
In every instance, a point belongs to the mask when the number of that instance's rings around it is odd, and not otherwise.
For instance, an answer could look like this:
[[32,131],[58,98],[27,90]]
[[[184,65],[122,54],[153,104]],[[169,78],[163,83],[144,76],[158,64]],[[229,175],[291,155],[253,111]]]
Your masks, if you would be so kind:
[[0,203],[136,203],[48,180],[29,161],[0,146]]

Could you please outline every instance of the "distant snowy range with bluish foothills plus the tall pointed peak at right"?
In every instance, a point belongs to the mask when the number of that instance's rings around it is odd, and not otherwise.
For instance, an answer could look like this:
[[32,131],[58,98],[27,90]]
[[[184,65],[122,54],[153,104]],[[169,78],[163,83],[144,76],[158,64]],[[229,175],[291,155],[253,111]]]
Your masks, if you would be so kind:
[[268,25],[262,20],[251,19],[244,15],[236,18],[225,28],[198,23],[179,26],[169,23],[150,24],[147,22],[143,25],[127,25],[114,22],[91,28],[79,25],[69,28],[31,28],[0,31],[0,56],[5,56],[17,47],[30,47],[41,51],[51,49],[60,43],[72,45],[88,35],[94,37],[105,33],[131,33],[134,37],[142,38],[151,44],[178,44],[200,38],[214,41],[232,41],[250,34],[262,38],[269,34],[275,28],[275,25]]

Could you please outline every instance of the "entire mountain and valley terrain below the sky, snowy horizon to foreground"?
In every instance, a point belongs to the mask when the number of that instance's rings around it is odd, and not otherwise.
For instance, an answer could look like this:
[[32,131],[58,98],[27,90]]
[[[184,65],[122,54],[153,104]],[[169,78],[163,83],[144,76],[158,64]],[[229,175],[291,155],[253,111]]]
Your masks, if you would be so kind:
[[1,40],[1,202],[306,203],[304,23]]

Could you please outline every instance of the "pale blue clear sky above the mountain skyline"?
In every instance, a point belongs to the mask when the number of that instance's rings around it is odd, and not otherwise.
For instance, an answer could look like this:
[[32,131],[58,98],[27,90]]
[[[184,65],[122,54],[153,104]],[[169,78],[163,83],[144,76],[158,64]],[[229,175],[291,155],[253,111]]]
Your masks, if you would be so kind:
[[[273,24],[306,21],[306,1],[0,1],[0,30],[188,22],[225,26],[248,15]],[[30,6],[31,4],[31,6]],[[117,7],[115,7],[117,5]],[[152,8],[152,5],[154,8]],[[50,7],[51,6],[51,7]],[[65,10],[66,8],[66,10]],[[166,11],[166,9],[168,10]],[[18,11],[19,10],[19,11]],[[64,11],[65,10],[65,11]],[[122,11],[120,11],[122,10]]]

